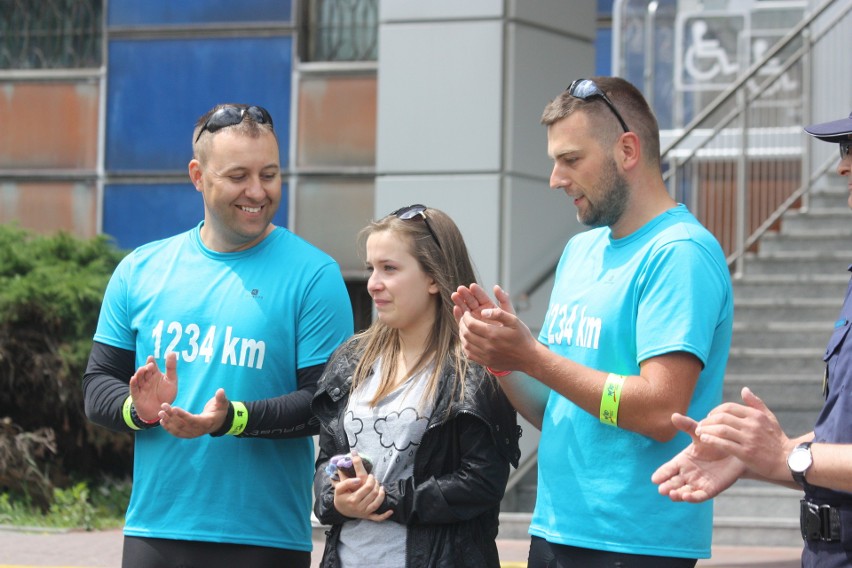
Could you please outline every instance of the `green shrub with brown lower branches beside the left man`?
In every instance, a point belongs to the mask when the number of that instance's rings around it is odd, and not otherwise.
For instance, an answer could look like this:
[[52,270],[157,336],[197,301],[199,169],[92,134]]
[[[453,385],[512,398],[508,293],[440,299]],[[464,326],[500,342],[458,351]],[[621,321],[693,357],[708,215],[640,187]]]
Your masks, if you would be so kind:
[[73,479],[131,472],[132,437],[89,423],[82,393],[104,289],[124,254],[102,236],[0,225],[0,490],[45,511]]

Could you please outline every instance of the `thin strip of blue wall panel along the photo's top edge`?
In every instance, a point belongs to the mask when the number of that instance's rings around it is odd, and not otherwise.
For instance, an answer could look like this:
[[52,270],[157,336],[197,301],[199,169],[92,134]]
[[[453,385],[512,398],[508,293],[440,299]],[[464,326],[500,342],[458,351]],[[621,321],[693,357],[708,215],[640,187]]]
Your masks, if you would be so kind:
[[109,0],[108,26],[289,22],[292,0]]

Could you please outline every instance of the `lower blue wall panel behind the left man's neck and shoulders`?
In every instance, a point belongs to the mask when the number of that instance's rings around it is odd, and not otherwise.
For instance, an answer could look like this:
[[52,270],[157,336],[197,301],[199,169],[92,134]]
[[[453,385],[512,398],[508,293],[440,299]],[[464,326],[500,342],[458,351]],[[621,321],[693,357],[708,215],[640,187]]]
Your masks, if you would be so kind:
[[[188,174],[187,174],[188,179]],[[287,226],[287,193],[273,223]],[[107,185],[104,187],[103,232],[119,247],[132,249],[191,229],[204,219],[201,194],[189,182],[171,185]]]

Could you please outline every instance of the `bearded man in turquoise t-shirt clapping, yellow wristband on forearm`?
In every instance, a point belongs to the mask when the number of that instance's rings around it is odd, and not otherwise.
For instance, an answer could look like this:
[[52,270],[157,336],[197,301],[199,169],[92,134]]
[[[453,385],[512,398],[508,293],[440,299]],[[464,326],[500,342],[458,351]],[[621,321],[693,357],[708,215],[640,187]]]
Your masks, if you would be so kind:
[[590,227],[566,245],[538,338],[476,285],[454,295],[468,356],[541,429],[531,568],[681,568],[710,556],[712,504],[650,476],[689,444],[673,412],[721,401],[733,292],[716,239],[660,173],[656,118],[617,77],[578,79],[544,110],[550,186]]

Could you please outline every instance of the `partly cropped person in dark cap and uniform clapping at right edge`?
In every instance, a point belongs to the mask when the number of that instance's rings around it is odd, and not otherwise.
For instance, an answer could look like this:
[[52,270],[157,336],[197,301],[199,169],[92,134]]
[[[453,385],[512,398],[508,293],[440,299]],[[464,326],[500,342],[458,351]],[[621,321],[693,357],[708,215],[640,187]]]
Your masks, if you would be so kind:
[[[838,144],[837,173],[852,192],[852,114],[813,124],[805,132]],[[852,193],[849,197],[852,207]],[[849,267],[852,270],[852,266]],[[799,522],[804,568],[852,565],[852,281],[825,350],[825,404],[812,432],[789,438],[775,415],[747,387],[744,404],[725,403],[700,422],[675,414],[672,422],[693,443],[662,465],[653,481],[674,501],[701,503],[740,478],[803,489]]]

